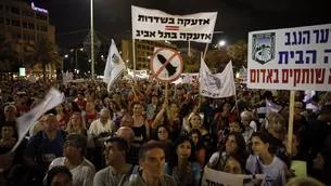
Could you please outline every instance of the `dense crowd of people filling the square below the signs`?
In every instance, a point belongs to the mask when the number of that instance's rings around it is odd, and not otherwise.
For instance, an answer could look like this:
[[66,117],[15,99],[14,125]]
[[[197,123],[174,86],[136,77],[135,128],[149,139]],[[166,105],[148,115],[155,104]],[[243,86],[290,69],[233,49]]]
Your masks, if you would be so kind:
[[[55,87],[65,101],[33,123],[15,151],[16,119]],[[0,82],[0,185],[200,186],[204,169],[265,174],[264,185],[331,185],[331,104],[297,91],[288,151],[289,91],[208,98],[198,84],[120,79]],[[280,106],[270,109],[268,103]],[[291,169],[306,162],[308,177]]]

